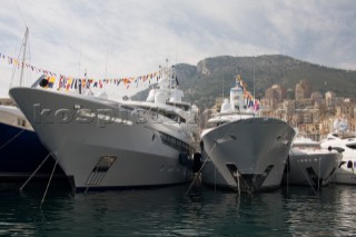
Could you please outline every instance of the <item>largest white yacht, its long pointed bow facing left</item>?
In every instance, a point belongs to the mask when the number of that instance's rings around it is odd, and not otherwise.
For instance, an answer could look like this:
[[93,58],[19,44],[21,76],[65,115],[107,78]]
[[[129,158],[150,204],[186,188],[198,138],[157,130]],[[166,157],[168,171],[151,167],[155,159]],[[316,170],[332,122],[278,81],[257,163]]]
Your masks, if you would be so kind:
[[191,179],[197,110],[181,101],[171,73],[161,75],[147,101],[42,88],[10,95],[77,190],[174,185]]

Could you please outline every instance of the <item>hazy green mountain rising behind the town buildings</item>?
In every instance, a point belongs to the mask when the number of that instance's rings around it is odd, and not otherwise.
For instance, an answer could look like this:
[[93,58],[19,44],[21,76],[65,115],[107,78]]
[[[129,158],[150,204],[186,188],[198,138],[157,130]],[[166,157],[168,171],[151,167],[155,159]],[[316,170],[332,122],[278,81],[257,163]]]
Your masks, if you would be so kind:
[[[241,76],[251,93],[255,89],[256,98],[264,97],[265,90],[275,83],[294,90],[300,80],[308,81],[313,91],[325,93],[332,90],[338,97],[350,98],[356,95],[355,70],[328,68],[281,55],[220,56],[204,59],[197,66],[179,63],[175,67],[185,100],[200,109],[210,108],[217,97],[228,97],[237,75]],[[147,93],[141,91],[132,99],[145,99]]]

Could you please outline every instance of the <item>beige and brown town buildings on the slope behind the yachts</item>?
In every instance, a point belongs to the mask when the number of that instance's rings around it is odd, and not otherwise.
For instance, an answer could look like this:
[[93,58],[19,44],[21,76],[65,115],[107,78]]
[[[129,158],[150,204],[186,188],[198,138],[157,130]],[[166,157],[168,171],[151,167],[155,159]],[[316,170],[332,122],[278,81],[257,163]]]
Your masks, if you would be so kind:
[[313,89],[306,80],[300,80],[294,89],[273,85],[265,90],[265,97],[260,100],[260,116],[288,121],[300,134],[315,140],[320,140],[334,131],[336,119],[346,121],[348,130],[354,131],[355,98],[337,97],[332,90],[323,95]]

